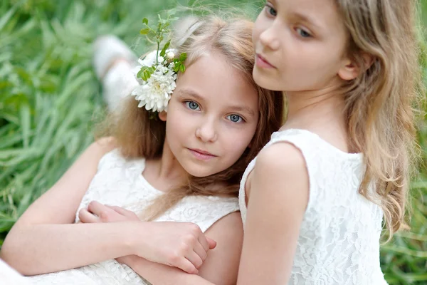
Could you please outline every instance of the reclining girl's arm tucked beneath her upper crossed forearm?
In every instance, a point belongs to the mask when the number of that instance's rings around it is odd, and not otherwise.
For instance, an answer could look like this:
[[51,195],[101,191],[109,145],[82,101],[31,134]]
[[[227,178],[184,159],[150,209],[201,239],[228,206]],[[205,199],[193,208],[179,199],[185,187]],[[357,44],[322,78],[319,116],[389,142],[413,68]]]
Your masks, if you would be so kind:
[[[134,213],[120,207],[99,204],[95,212],[97,216],[104,213],[103,218],[98,219],[92,214],[86,213],[82,222],[115,222],[117,220],[135,219]],[[161,224],[161,222],[152,223]],[[117,261],[127,264],[152,284],[236,284],[243,239],[240,213],[234,212],[219,219],[206,231],[206,234],[216,240],[217,243],[216,248],[209,251],[203,264],[200,267],[198,266],[198,275],[187,274],[180,269],[147,261],[135,255],[120,257],[117,258]],[[164,246],[166,245],[164,244]]]

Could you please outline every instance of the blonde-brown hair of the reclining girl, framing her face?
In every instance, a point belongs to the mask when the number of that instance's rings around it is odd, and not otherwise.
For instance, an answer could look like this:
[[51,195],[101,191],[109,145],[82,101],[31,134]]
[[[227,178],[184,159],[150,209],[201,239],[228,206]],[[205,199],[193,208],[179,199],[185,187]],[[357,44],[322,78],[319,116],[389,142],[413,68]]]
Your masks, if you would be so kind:
[[[188,33],[182,33],[179,53],[187,53],[186,66],[209,53],[221,53],[227,62],[240,71],[248,83],[258,90],[260,117],[255,135],[243,155],[231,167],[209,177],[190,177],[184,185],[177,185],[154,202],[142,213],[142,218],[152,220],[173,207],[188,195],[238,196],[238,186],[249,162],[270,139],[270,135],[283,123],[283,95],[258,87],[253,81],[252,70],[255,56],[252,46],[253,23],[245,19],[222,19],[206,16],[191,24]],[[135,98],[128,98],[118,118],[112,118],[110,134],[125,157],[145,157],[147,160],[162,156],[166,123],[149,119],[144,108],[137,107]],[[221,187],[214,187],[221,185]]]

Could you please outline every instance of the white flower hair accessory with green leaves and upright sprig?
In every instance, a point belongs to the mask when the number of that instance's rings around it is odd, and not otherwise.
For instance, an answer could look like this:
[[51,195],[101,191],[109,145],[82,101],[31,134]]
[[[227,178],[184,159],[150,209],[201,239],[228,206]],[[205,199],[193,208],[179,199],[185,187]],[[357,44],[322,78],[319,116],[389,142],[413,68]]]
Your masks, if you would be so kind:
[[139,100],[138,107],[145,107],[152,112],[167,111],[167,105],[174,89],[176,88],[176,77],[179,71],[184,72],[184,61],[186,53],[176,56],[176,49],[169,49],[171,41],[167,41],[162,50],[159,50],[163,41],[163,34],[168,32],[168,20],[162,20],[159,16],[157,31],[148,26],[148,20],[144,18],[142,22],[147,26],[140,33],[144,35],[152,34],[157,41],[157,50],[148,53],[144,59],[139,60],[139,66],[135,67],[135,78],[139,83],[131,93]]

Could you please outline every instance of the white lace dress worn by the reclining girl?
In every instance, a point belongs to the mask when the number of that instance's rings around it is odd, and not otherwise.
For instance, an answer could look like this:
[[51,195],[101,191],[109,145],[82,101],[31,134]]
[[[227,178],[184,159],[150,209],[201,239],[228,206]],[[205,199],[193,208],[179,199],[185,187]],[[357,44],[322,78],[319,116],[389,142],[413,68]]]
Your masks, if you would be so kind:
[[[90,201],[125,207],[141,212],[149,202],[162,192],[149,185],[142,176],[145,160],[125,160],[119,150],[107,153],[98,165],[88,191],[80,203],[80,210]],[[238,211],[237,198],[185,197],[176,207],[169,209],[156,221],[194,222],[203,232],[221,217]],[[78,222],[76,213],[75,221]],[[64,257],[66,258],[66,257]],[[145,284],[130,267],[119,264],[115,259],[77,269],[26,277],[31,284],[43,285],[130,285]]]

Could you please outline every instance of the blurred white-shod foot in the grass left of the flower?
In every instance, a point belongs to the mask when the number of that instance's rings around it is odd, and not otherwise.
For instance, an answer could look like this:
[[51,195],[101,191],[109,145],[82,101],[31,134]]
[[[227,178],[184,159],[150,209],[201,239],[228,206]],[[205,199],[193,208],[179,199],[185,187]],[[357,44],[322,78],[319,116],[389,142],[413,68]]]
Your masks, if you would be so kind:
[[100,36],[93,44],[93,66],[111,111],[138,85],[132,73],[136,63],[137,56],[115,36]]

